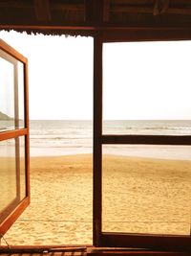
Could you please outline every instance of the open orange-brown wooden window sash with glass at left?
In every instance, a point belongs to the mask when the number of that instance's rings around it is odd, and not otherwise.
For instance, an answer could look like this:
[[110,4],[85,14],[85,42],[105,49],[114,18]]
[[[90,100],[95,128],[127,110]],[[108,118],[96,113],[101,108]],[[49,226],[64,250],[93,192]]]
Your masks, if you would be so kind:
[[0,233],[29,204],[27,59],[0,40]]

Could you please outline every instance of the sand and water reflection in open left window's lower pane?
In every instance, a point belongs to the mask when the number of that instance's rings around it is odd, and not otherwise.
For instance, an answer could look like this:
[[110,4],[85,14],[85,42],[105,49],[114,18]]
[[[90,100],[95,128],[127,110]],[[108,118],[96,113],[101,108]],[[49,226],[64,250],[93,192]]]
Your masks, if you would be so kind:
[[0,212],[16,198],[16,161],[14,139],[0,142]]

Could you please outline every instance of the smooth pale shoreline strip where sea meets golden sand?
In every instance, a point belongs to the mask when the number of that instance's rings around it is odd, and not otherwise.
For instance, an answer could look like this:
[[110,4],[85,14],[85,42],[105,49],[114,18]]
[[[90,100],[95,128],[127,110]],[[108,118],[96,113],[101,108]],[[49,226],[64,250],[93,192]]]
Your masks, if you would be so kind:
[[[107,154],[129,157],[146,157],[152,159],[167,160],[191,160],[191,146],[171,145],[104,145]],[[32,148],[31,157],[44,156],[67,156],[93,153],[90,148]]]

